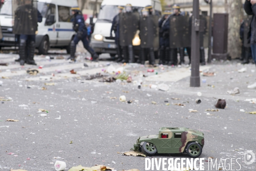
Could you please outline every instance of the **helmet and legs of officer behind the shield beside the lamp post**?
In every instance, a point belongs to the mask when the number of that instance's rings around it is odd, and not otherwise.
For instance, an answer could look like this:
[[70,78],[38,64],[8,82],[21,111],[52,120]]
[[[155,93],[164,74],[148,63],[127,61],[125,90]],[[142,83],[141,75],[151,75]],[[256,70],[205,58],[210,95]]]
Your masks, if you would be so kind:
[[[181,16],[180,14],[180,6],[177,4],[174,4],[172,6],[173,14],[174,16]],[[184,48],[180,47],[180,61],[181,63],[184,63]],[[170,62],[169,65],[177,65],[178,59],[177,59],[177,48],[170,49]]]

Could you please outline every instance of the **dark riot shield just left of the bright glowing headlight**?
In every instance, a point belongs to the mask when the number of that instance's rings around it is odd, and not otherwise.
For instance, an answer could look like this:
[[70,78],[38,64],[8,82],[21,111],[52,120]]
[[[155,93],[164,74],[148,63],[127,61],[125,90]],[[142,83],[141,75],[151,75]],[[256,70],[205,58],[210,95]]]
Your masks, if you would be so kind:
[[135,13],[121,13],[119,18],[119,41],[121,46],[132,45],[139,29],[139,17]]

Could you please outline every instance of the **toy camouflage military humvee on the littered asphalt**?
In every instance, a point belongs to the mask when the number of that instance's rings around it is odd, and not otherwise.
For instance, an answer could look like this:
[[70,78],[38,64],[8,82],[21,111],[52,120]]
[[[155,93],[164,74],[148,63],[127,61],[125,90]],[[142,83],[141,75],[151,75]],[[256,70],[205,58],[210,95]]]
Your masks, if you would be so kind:
[[187,153],[196,158],[201,155],[203,147],[204,133],[181,127],[160,128],[158,135],[142,136],[131,150],[141,151],[148,156],[156,153]]

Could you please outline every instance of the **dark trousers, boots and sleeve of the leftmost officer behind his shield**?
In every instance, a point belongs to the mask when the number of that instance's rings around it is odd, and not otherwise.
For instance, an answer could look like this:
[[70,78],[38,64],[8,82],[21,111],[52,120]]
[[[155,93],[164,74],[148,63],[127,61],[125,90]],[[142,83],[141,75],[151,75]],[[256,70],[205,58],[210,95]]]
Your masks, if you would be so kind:
[[[41,23],[43,17],[41,13],[37,10],[37,21]],[[31,64],[36,65],[34,61],[35,54],[35,34],[33,35],[17,35],[19,40],[19,56],[20,58],[15,60],[20,62],[20,65]]]

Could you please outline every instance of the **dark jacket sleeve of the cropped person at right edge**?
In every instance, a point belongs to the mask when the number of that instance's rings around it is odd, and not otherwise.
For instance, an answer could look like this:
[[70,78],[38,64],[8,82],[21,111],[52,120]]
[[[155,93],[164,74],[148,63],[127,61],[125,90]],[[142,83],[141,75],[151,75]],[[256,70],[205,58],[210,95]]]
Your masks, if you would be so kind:
[[251,44],[256,44],[256,4],[252,5],[250,1],[245,0],[244,3],[244,11],[248,15],[252,15],[252,22],[250,24],[250,32],[248,33],[247,39],[248,43],[250,42]]

